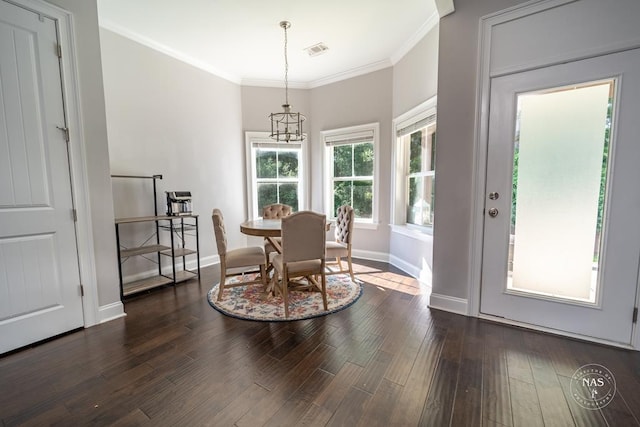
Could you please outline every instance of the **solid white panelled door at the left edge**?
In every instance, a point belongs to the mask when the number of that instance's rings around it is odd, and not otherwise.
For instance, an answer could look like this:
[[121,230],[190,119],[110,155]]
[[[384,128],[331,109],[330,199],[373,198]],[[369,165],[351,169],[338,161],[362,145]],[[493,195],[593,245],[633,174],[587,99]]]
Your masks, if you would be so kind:
[[0,353],[83,326],[57,46],[0,0]]

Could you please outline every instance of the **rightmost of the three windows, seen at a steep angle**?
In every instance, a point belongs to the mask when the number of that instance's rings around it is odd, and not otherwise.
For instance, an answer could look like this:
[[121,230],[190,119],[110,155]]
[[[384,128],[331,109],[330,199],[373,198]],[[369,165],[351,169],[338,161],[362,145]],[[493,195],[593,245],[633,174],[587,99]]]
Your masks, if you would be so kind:
[[394,128],[394,224],[431,229],[435,202],[435,97],[394,120]]

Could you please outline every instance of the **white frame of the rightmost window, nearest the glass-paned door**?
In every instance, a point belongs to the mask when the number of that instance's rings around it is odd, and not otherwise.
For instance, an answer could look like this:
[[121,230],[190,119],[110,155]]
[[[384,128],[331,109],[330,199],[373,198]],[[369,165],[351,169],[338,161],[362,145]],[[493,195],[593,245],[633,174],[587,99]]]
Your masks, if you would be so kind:
[[[415,127],[415,130],[421,129],[424,126],[417,127],[420,122],[429,119],[431,116],[435,117],[434,123],[436,124],[437,132],[437,96],[433,96],[406,113],[401,114],[396,117],[392,123],[393,156],[391,166],[394,169],[394,173],[392,174],[391,185],[391,225],[396,231],[402,228],[411,234],[433,234],[433,225],[424,226],[407,223],[406,206],[409,198],[408,177],[413,174],[409,174],[409,144],[403,144],[403,137],[399,136],[399,133],[403,129],[410,129],[412,127]],[[435,179],[435,169],[434,167],[430,174],[433,179]]]

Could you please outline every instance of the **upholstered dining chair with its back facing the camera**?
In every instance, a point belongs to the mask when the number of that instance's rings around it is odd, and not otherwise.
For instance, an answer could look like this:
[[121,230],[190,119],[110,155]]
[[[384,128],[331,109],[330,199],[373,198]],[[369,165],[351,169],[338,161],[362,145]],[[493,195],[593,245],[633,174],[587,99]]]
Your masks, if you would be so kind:
[[271,260],[274,271],[271,280],[276,293],[284,300],[285,317],[289,317],[289,291],[294,289],[319,291],[327,310],[326,221],[325,215],[311,211],[282,218],[282,253]]

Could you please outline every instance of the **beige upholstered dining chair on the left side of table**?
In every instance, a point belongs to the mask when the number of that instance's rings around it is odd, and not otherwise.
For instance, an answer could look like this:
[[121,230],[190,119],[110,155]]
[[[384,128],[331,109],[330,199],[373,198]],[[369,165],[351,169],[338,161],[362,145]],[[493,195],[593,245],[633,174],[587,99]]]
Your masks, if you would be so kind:
[[[262,246],[249,246],[238,249],[227,249],[227,232],[224,227],[224,218],[220,209],[214,209],[211,213],[213,220],[213,230],[220,256],[220,285],[218,290],[218,301],[222,299],[222,293],[227,288],[235,286],[246,286],[255,283],[262,283],[267,286],[267,273],[265,266],[264,248]],[[254,280],[240,281],[237,283],[227,283],[227,278],[241,273],[231,273],[230,269],[240,269],[248,267],[259,267],[260,276]],[[237,270],[236,270],[237,271]]]

